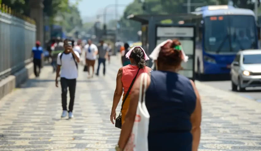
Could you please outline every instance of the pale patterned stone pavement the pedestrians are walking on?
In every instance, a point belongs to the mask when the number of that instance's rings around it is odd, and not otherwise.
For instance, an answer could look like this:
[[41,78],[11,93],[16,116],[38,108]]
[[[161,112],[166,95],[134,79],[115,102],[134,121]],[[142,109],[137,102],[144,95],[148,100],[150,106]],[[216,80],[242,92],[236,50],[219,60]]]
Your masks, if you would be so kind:
[[[60,118],[61,90],[50,66],[4,97],[0,151],[114,151],[120,131],[109,117],[120,60],[112,60],[105,77],[100,72],[100,77],[87,79],[79,67],[72,120]],[[203,105],[199,151],[260,151],[261,103],[202,82],[196,86]]]

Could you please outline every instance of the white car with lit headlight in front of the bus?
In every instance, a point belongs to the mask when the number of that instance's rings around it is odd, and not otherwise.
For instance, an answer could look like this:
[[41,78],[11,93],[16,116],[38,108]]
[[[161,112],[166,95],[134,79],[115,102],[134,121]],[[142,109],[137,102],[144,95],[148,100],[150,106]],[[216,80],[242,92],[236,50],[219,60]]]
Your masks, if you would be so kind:
[[261,50],[242,50],[231,64],[233,91],[244,91],[247,87],[261,87]]

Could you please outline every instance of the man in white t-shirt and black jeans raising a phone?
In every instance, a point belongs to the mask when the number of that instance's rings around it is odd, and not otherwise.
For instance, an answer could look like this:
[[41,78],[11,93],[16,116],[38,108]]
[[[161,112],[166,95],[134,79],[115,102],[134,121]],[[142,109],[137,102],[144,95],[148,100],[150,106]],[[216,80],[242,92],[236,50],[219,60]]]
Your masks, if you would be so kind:
[[[64,51],[58,54],[57,69],[56,69],[56,87],[58,87],[57,78],[60,76],[62,88],[62,107],[63,113],[61,117],[66,117],[69,112],[69,118],[73,118],[72,110],[74,105],[74,97],[76,90],[76,78],[78,77],[78,64],[80,55],[72,50],[72,42],[64,40]],[[60,74],[61,71],[61,74]],[[60,75],[59,75],[60,74]],[[69,87],[70,103],[69,111],[67,111],[67,88]]]

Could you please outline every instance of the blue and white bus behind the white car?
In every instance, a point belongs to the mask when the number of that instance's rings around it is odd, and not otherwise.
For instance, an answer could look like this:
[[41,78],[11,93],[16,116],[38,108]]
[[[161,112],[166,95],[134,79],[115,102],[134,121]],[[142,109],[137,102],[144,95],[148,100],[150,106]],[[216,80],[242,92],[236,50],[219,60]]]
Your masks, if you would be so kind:
[[195,72],[229,74],[239,50],[258,48],[258,30],[252,10],[233,6],[204,6],[184,23],[196,23]]

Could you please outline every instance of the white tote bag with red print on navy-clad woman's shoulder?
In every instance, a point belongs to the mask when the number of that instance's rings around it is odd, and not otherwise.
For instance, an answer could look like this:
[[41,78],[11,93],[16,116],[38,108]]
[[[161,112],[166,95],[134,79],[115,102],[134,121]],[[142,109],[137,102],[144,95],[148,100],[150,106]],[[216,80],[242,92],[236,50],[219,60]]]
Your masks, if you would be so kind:
[[[147,87],[147,75],[142,74],[140,82],[140,92],[139,92],[139,101],[136,112],[136,117],[130,138],[123,151],[148,151],[148,131],[149,131],[149,122],[150,114],[145,105],[145,93]],[[144,89],[142,89],[142,84],[144,81]],[[143,97],[142,97],[143,90]]]

